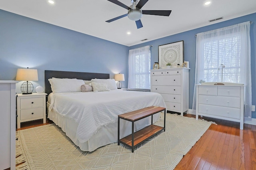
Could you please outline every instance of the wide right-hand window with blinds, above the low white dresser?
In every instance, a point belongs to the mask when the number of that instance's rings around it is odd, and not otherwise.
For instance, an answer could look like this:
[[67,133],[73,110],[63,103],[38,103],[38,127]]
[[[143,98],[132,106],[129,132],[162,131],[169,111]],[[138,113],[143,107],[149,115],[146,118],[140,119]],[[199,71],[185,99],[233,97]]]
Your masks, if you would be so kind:
[[[241,83],[240,36],[217,37],[204,42],[204,77],[206,82]],[[223,64],[223,65],[222,65]]]

